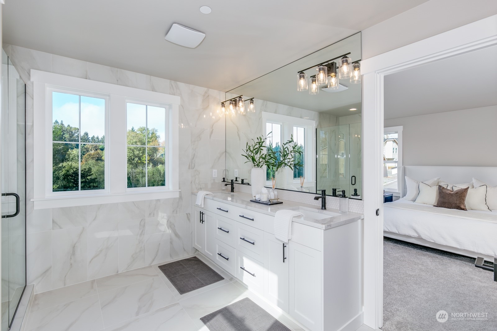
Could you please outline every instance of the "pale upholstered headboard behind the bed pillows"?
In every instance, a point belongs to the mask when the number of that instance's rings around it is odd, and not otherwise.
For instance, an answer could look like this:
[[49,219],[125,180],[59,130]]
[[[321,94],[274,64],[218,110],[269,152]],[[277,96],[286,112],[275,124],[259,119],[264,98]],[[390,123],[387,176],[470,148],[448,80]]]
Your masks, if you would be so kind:
[[[406,195],[405,176],[418,181],[440,177],[440,180],[452,184],[469,183],[473,177],[491,186],[497,186],[497,167],[453,167],[453,166],[404,166],[402,167],[401,196]],[[402,198],[401,197],[401,198]]]

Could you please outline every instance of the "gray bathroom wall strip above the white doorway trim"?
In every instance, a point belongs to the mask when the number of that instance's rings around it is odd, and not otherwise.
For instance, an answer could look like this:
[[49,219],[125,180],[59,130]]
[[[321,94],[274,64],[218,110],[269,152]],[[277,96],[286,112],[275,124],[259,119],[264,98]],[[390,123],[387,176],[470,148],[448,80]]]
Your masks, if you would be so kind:
[[[468,5],[471,6],[468,9]],[[496,0],[430,0],[362,31],[362,59],[497,14]]]

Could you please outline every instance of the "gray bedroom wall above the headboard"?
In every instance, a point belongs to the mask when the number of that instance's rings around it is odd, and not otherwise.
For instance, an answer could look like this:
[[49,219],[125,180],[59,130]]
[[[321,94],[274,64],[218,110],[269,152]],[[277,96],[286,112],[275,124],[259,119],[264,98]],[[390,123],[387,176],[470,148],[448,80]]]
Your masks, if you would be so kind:
[[497,105],[385,120],[404,126],[403,165],[497,166]]

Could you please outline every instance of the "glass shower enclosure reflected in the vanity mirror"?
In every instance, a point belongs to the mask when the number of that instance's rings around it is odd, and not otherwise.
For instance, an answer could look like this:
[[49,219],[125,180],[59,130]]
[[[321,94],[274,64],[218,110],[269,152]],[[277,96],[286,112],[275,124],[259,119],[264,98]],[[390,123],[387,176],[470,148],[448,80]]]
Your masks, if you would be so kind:
[[317,189],[362,199],[361,123],[316,129]]

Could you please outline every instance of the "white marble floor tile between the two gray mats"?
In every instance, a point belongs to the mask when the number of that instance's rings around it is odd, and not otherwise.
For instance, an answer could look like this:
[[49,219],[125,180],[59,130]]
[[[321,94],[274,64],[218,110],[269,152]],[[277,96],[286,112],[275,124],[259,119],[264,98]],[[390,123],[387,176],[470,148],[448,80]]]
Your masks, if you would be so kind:
[[246,292],[231,282],[210,291],[180,300],[179,303],[197,327],[200,328],[204,326],[202,321],[200,321],[201,317],[246,298]]

